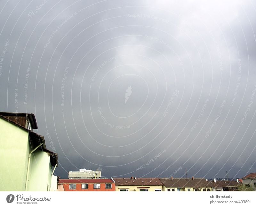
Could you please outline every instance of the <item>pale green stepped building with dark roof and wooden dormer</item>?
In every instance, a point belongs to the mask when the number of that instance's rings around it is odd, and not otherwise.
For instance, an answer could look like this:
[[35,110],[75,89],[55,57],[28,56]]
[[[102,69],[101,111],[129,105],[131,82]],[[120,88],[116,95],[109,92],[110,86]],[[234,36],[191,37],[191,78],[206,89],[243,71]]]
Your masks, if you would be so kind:
[[57,191],[57,153],[46,149],[34,114],[0,112],[0,191]]

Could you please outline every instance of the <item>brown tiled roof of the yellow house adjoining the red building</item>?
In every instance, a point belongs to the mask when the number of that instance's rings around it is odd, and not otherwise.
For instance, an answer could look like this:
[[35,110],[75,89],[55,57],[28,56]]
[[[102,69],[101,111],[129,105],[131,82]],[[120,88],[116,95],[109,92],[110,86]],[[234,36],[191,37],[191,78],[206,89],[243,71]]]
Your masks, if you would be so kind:
[[128,186],[128,185],[141,185],[141,186],[148,186],[148,185],[163,185],[159,178],[113,178],[116,182],[116,186]]

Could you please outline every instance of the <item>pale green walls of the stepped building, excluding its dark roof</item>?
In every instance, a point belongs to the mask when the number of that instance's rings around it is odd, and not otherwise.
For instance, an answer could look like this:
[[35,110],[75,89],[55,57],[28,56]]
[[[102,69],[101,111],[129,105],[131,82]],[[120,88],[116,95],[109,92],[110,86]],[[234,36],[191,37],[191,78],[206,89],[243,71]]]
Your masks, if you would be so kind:
[[[32,151],[28,131],[1,118],[0,126],[0,191],[25,191],[28,155]],[[57,186],[55,177],[52,178],[49,152],[33,152],[27,191],[50,191],[55,186],[52,179]]]

